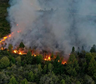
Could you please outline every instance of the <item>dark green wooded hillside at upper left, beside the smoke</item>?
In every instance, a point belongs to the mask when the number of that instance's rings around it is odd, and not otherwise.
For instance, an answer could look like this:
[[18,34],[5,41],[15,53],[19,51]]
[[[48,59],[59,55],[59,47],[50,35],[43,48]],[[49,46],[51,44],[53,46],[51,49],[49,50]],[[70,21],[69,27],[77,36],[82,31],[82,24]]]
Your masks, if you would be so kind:
[[8,6],[8,0],[0,0],[0,38],[10,33],[10,26],[6,21]]

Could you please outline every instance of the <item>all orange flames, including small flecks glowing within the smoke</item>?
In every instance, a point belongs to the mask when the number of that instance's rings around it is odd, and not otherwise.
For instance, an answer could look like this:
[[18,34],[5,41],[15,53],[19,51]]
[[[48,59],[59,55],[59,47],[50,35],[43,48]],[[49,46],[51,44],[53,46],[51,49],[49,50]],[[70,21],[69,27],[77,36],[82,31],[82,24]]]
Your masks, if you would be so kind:
[[[18,24],[17,24],[18,26]],[[17,31],[17,33],[20,33],[21,31]],[[2,47],[2,45],[4,45],[4,42],[8,39],[8,38],[11,38],[12,35],[14,34],[14,32],[12,32],[11,34],[9,34],[8,36],[5,36],[3,37],[2,39],[0,39],[0,50],[4,50],[4,47]],[[13,50],[13,53],[14,54],[19,54],[19,55],[26,55],[27,52],[25,52],[24,50]],[[36,57],[37,55],[32,52],[32,56]],[[51,60],[54,60],[56,58],[56,56],[54,55],[54,58],[51,58],[51,54],[47,54],[45,56],[43,56],[44,58],[44,61],[51,61]],[[60,62],[61,60],[58,60],[58,62]],[[67,62],[66,61],[61,61],[61,64],[66,64]]]

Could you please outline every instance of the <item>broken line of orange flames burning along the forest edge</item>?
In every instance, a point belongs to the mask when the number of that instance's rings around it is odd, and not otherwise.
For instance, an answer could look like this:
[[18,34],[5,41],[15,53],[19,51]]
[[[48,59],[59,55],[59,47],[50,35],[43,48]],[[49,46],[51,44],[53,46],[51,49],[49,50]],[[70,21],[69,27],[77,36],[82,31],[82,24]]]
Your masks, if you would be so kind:
[[[17,31],[18,33],[20,33],[21,31]],[[4,50],[5,48],[4,48],[4,46],[3,45],[5,45],[5,41],[8,39],[8,38],[11,38],[12,37],[12,34],[14,34],[13,32],[11,33],[11,34],[9,34],[8,36],[5,36],[5,37],[3,37],[3,39],[1,39],[0,40],[0,50]],[[9,51],[9,50],[8,50]],[[27,51],[27,50],[25,50],[25,51]],[[18,55],[27,55],[27,52],[25,52],[24,51],[24,49],[19,49],[19,50],[17,50],[17,49],[15,49],[15,50],[13,50],[12,49],[12,52],[14,53],[14,54],[18,54]],[[32,51],[32,50],[30,50],[30,51]],[[50,54],[45,54],[44,55],[44,53],[43,54],[41,54],[42,56],[43,56],[43,60],[44,61],[52,61],[52,60],[55,60],[56,59],[56,56],[54,55],[54,58],[52,58],[51,57],[51,53]],[[37,56],[37,54],[34,52],[34,51],[32,51],[31,52],[31,56],[34,56],[34,57],[36,57]],[[61,58],[60,58],[60,60],[58,60],[58,62],[60,62],[61,61]],[[66,61],[61,61],[61,64],[66,64],[67,62]]]

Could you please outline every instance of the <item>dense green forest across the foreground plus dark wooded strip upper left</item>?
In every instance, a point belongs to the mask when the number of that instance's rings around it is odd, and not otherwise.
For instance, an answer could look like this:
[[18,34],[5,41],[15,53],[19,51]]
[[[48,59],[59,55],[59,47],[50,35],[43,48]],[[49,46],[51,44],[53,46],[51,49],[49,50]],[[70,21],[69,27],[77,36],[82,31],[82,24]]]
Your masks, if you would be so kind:
[[[8,0],[0,0],[0,38],[10,33],[8,6]],[[59,55],[44,61],[42,55],[32,56],[30,49],[26,55],[14,54],[9,45],[8,50],[0,50],[0,84],[96,84],[96,45],[90,52],[79,49],[73,47],[63,65]]]

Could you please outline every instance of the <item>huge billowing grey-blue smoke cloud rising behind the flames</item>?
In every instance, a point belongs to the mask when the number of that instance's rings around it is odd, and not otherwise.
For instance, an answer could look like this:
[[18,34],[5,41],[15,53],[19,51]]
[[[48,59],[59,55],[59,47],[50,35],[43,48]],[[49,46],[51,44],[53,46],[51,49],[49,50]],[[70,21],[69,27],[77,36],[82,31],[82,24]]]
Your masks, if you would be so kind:
[[7,19],[15,34],[7,43],[13,46],[23,41],[27,47],[68,54],[73,46],[89,50],[96,42],[96,0],[10,0],[9,3]]

